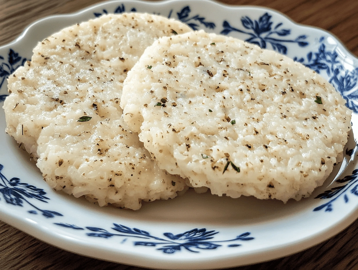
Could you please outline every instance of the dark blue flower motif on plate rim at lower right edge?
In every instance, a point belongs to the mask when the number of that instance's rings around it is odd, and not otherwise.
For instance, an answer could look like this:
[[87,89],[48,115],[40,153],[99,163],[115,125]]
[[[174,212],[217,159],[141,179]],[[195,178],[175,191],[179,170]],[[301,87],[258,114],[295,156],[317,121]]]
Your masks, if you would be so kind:
[[[329,190],[325,190],[323,193],[316,196],[315,199],[330,199],[328,202],[315,207],[313,211],[319,211],[325,209],[325,212],[331,212],[333,210],[333,202],[343,195],[345,203],[349,202],[347,191],[350,189],[350,193],[358,196],[358,169],[352,172],[352,175],[347,175],[343,179],[338,179],[336,183],[342,184]],[[354,185],[354,186],[353,186]],[[352,187],[353,186],[353,187]]]

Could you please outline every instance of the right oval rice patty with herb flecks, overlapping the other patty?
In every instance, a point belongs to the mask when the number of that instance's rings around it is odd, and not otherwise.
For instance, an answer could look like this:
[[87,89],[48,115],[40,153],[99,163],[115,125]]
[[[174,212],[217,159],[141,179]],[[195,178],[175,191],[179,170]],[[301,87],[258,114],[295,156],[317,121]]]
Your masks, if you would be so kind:
[[154,42],[121,98],[125,121],[162,169],[213,194],[284,202],[308,196],[332,171],[350,129],[344,104],[300,63],[203,31]]

